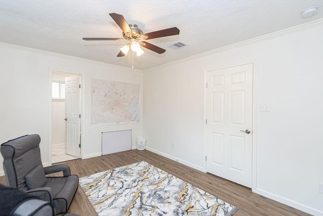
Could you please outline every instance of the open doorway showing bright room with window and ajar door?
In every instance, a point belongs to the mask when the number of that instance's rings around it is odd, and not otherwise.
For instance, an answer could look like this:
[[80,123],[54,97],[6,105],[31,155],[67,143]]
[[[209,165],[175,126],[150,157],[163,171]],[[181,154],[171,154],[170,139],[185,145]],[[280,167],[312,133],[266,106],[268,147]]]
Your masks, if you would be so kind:
[[52,71],[52,163],[80,158],[81,79],[81,74]]

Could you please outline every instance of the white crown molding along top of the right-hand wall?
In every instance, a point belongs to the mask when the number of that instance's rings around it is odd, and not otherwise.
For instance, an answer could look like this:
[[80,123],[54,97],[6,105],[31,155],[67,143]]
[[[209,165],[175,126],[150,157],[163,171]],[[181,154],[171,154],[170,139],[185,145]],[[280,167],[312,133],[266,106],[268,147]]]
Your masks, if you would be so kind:
[[254,37],[254,38],[251,38],[251,39],[243,40],[243,41],[237,42],[237,43],[232,44],[232,45],[228,45],[228,46],[221,47],[221,48],[218,48],[218,49],[215,49],[215,50],[207,51],[205,53],[200,53],[200,54],[197,54],[197,55],[194,55],[194,56],[190,56],[190,57],[183,58],[183,59],[180,59],[180,60],[176,60],[176,61],[173,61],[173,62],[169,62],[169,63],[166,63],[166,64],[158,65],[156,67],[151,67],[151,68],[143,70],[143,72],[148,72],[150,70],[154,70],[154,69],[157,69],[157,68],[177,64],[177,63],[180,63],[180,62],[186,62],[188,60],[193,60],[193,59],[204,57],[204,56],[209,56],[209,55],[215,54],[215,53],[221,53],[221,52],[224,52],[224,51],[228,51],[228,50],[231,50],[231,49],[234,49],[234,48],[246,46],[246,45],[249,45],[249,44],[255,44],[256,42],[260,42],[260,41],[272,39],[272,38],[275,38],[275,37],[280,37],[280,36],[292,34],[294,32],[305,31],[305,30],[308,30],[308,29],[311,29],[311,28],[319,27],[321,25],[323,25],[323,18],[317,19],[317,20],[314,20],[314,21],[311,21],[311,22],[307,22],[307,23],[304,23],[304,24],[301,24],[301,25],[293,26],[293,27],[290,27],[290,28],[286,28],[286,29],[283,29],[283,30],[280,30],[280,31],[275,31],[275,32],[272,32],[272,33],[264,34],[264,35]]

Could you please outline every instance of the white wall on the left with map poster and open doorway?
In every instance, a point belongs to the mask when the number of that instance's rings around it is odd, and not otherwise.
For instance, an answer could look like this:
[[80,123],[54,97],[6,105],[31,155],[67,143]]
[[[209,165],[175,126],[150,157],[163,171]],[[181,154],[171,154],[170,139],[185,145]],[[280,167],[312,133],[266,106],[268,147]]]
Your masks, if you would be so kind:
[[[90,122],[91,80],[98,78],[142,85],[141,71],[6,44],[0,44],[0,65],[0,143],[26,134],[39,134],[42,162],[48,165],[52,70],[82,74],[85,93],[83,158],[101,155],[102,132],[132,129],[133,146],[136,146],[136,137],[142,136],[142,122],[100,126]],[[4,175],[2,156],[0,175]]]

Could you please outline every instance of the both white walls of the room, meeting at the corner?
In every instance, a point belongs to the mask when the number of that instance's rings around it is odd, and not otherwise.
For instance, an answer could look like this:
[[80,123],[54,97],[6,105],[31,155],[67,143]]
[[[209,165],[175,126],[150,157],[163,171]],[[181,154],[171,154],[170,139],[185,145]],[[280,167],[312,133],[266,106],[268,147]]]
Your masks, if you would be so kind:
[[[254,191],[323,215],[323,194],[318,193],[318,183],[323,182],[322,38],[323,26],[318,26],[179,61],[143,75],[127,68],[0,44],[0,143],[39,134],[42,161],[48,163],[49,71],[75,72],[82,74],[85,83],[83,158],[101,154],[101,132],[132,129],[133,146],[144,131],[148,149],[204,169],[204,72],[255,61],[257,107],[270,104],[271,112],[255,113]],[[93,78],[139,84],[143,80],[143,124],[92,126]]]

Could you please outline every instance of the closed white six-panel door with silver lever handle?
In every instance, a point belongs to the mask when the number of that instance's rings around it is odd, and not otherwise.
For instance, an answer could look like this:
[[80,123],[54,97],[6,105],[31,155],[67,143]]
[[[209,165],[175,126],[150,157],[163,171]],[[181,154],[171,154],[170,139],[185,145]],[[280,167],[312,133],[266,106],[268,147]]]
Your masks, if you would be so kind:
[[249,188],[252,181],[252,76],[253,64],[206,74],[206,171]]

